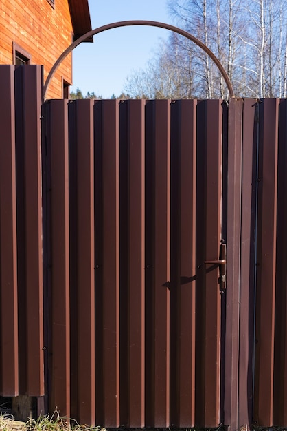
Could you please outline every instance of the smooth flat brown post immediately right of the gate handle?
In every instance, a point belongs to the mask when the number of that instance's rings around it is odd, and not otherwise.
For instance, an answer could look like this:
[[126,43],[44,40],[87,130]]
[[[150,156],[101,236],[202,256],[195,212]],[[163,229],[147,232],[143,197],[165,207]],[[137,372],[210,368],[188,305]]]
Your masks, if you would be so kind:
[[225,337],[225,424],[238,429],[240,232],[242,187],[242,99],[228,107],[227,291]]

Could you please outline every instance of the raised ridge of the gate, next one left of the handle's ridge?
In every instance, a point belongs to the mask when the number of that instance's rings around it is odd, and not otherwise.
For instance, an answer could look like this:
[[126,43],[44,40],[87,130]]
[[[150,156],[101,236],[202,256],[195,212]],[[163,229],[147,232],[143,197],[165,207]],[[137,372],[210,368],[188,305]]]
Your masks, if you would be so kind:
[[[179,426],[195,421],[196,101],[181,101],[181,298]],[[188,280],[185,280],[187,277]],[[185,282],[188,281],[186,284]]]

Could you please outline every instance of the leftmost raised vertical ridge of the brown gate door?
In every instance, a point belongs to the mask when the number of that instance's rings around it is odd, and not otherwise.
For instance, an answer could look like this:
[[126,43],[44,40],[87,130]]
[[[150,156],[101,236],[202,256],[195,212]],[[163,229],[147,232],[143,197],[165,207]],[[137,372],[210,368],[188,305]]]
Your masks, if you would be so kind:
[[69,158],[67,101],[49,102],[51,151],[51,408],[70,416]]

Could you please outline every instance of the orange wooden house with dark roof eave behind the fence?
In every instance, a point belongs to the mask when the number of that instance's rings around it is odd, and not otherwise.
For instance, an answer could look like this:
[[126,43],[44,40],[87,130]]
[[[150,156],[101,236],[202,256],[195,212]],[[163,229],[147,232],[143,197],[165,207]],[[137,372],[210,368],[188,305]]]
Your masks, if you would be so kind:
[[[88,0],[0,0],[0,64],[43,65],[45,80],[58,56],[90,30]],[[67,97],[71,84],[69,54],[47,97]]]

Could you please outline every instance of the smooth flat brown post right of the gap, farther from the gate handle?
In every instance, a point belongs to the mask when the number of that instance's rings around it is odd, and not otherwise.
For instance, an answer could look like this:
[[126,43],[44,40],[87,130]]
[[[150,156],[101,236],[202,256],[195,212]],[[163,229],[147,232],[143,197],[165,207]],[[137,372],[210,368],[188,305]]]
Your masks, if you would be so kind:
[[255,187],[257,101],[245,99],[242,117],[242,211],[238,427],[253,421],[253,346],[255,300]]

